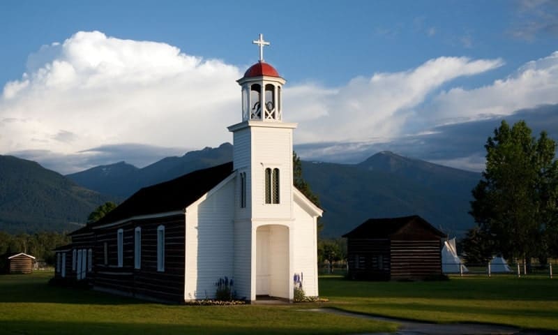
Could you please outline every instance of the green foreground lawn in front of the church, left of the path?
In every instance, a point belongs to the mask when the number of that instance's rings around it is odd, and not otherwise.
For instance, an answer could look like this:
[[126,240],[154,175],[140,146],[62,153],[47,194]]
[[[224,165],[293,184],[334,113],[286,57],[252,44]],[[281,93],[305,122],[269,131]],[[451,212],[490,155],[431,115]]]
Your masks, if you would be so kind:
[[356,334],[396,325],[285,306],[177,306],[47,285],[50,273],[0,276],[0,334]]

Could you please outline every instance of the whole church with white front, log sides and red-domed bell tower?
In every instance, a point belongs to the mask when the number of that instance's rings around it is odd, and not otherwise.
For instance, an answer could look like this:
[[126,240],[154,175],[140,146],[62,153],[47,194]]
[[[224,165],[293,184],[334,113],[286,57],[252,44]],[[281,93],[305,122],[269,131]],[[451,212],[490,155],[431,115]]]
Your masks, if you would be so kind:
[[317,218],[322,209],[293,186],[293,131],[284,121],[285,80],[263,59],[237,82],[241,121],[232,163],[142,188],[56,250],[57,278],[142,299],[212,298],[219,278],[236,297],[293,299],[294,274],[318,295]]

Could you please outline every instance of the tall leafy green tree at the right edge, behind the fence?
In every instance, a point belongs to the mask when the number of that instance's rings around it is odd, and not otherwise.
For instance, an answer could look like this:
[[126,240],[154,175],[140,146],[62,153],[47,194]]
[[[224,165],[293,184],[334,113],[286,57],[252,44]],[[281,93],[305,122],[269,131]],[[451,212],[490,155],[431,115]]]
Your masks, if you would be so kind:
[[556,143],[537,138],[525,121],[502,121],[485,144],[486,169],[473,190],[470,214],[495,252],[525,258],[548,253],[557,223]]

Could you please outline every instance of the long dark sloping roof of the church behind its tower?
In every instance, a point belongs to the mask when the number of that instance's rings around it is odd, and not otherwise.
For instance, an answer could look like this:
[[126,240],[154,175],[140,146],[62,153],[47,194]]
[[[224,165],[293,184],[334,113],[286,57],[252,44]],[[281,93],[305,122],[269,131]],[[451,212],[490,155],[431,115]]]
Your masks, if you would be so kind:
[[144,187],[105,217],[93,223],[92,226],[94,228],[133,216],[185,209],[229,177],[233,172],[232,166],[232,162],[229,162],[213,168],[190,172],[161,184]]

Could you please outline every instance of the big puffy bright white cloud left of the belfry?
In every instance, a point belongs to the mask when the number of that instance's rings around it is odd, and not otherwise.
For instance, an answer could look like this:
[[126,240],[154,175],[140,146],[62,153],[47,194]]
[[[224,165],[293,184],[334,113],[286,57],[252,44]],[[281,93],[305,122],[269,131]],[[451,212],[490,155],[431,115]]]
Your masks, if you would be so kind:
[[204,147],[230,140],[235,66],[165,43],[78,32],[29,57],[0,98],[0,152],[59,154],[101,144]]

